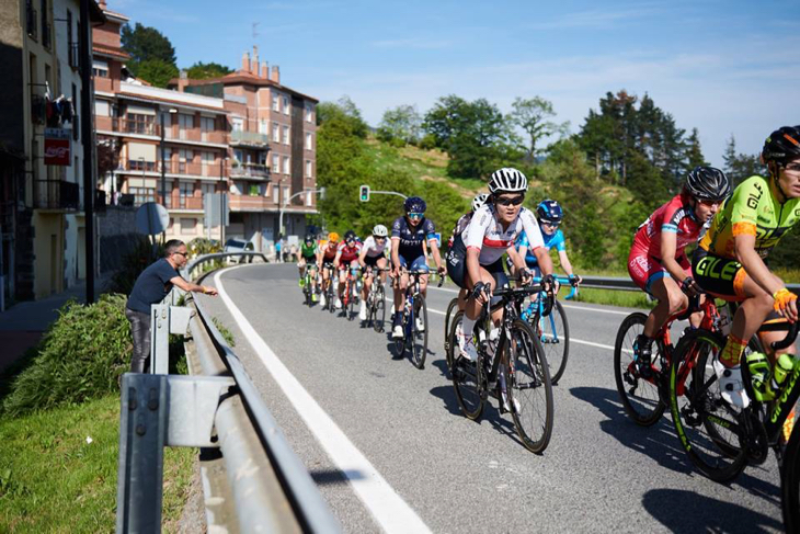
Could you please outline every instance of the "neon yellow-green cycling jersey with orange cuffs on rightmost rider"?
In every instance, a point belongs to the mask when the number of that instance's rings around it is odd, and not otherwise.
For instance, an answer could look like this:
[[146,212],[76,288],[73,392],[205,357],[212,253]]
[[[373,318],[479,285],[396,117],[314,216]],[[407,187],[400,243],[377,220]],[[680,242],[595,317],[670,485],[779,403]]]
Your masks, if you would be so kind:
[[735,259],[733,238],[748,234],[755,236],[755,251],[766,258],[798,220],[800,198],[780,204],[768,179],[751,177],[733,190],[700,240],[700,247],[711,254]]

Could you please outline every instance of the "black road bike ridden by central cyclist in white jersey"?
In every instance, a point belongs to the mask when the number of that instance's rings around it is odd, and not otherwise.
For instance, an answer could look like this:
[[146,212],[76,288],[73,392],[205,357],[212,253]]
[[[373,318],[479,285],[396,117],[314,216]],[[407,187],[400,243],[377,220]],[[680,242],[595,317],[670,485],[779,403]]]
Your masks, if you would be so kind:
[[[494,397],[501,413],[507,405],[519,440],[537,454],[547,448],[552,434],[552,385],[539,337],[519,317],[518,309],[526,298],[540,291],[540,286],[534,286],[502,287],[493,292],[492,299],[499,302],[491,306],[484,304],[472,331],[478,349],[476,362],[462,356],[458,349],[462,310],[453,318],[448,342],[453,386],[461,412],[468,419],[478,420],[488,398]],[[549,300],[551,306],[553,297]],[[490,308],[503,310],[499,327],[492,323]]]

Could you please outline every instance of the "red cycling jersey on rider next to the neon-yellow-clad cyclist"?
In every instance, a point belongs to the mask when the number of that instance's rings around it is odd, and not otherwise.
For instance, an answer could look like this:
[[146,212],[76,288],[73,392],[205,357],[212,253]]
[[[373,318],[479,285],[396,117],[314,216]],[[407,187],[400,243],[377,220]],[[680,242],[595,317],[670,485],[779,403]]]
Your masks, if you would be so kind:
[[[697,219],[688,195],[678,194],[653,212],[639,226],[633,249],[641,254],[661,260],[661,234],[675,234],[675,259],[685,254],[686,247],[697,241],[704,225]],[[631,251],[631,254],[633,251]]]

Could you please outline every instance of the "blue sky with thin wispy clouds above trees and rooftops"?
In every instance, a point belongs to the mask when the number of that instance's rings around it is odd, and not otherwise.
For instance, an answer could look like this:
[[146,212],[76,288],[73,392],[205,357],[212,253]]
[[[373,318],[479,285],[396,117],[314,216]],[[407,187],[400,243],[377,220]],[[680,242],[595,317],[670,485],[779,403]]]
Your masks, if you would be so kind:
[[[320,100],[348,95],[377,125],[389,107],[439,96],[502,111],[540,95],[578,132],[607,92],[648,92],[697,127],[722,166],[727,139],[755,154],[800,124],[800,1],[108,0],[164,33],[179,67],[239,68],[259,46],[282,82]],[[253,37],[253,23],[258,35]]]

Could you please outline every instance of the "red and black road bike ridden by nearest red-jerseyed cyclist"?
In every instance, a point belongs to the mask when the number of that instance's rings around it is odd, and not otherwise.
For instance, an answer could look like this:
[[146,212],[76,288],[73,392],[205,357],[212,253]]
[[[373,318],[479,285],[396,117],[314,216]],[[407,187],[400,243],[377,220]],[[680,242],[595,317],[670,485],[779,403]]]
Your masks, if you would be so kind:
[[686,320],[698,310],[702,311],[700,328],[720,330],[722,317],[713,298],[706,298],[701,304],[697,297],[692,298],[687,309],[670,317],[655,333],[649,365],[639,362],[633,351],[637,337],[644,330],[648,315],[636,311],[619,326],[614,343],[614,378],[622,407],[637,424],[650,427],[664,413],[670,398],[670,366],[675,353],[670,328],[674,321]]

